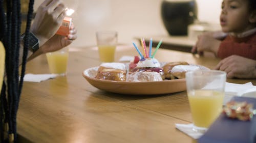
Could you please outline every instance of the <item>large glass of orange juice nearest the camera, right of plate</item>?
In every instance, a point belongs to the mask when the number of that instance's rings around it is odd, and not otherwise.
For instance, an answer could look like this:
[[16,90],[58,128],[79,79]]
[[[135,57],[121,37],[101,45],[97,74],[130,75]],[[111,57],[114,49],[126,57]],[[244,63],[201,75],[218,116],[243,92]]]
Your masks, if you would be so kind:
[[216,70],[186,73],[187,96],[193,130],[205,132],[222,111],[226,73]]

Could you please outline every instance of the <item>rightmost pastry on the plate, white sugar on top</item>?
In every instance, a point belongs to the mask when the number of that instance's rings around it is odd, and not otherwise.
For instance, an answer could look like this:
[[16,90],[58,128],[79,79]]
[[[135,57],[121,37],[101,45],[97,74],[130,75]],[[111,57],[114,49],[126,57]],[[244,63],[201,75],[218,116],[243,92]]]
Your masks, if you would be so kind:
[[185,73],[188,71],[200,70],[198,66],[193,65],[177,65],[174,66],[172,71],[170,71],[171,75],[176,78],[185,78]]

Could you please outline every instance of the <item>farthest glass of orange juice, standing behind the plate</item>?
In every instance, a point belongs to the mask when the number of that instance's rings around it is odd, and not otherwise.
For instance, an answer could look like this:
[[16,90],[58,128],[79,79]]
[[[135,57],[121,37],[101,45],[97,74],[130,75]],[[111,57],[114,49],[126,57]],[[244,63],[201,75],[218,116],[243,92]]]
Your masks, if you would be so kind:
[[117,44],[117,32],[96,32],[99,58],[101,62],[114,62]]

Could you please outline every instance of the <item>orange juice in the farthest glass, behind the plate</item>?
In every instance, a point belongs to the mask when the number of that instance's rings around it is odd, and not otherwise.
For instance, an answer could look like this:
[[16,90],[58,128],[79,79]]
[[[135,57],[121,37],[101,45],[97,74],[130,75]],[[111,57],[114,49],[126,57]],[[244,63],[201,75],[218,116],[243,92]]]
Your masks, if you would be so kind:
[[116,46],[99,45],[99,58],[101,62],[114,62]]

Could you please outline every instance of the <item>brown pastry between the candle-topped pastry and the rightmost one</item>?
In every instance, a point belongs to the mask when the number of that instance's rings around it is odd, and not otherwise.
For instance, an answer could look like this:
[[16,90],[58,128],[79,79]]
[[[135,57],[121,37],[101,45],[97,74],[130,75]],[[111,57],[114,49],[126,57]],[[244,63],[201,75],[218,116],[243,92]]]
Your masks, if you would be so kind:
[[163,72],[166,79],[175,79],[174,76],[171,75],[170,71],[172,71],[174,66],[177,65],[189,65],[187,62],[170,62],[163,66]]

